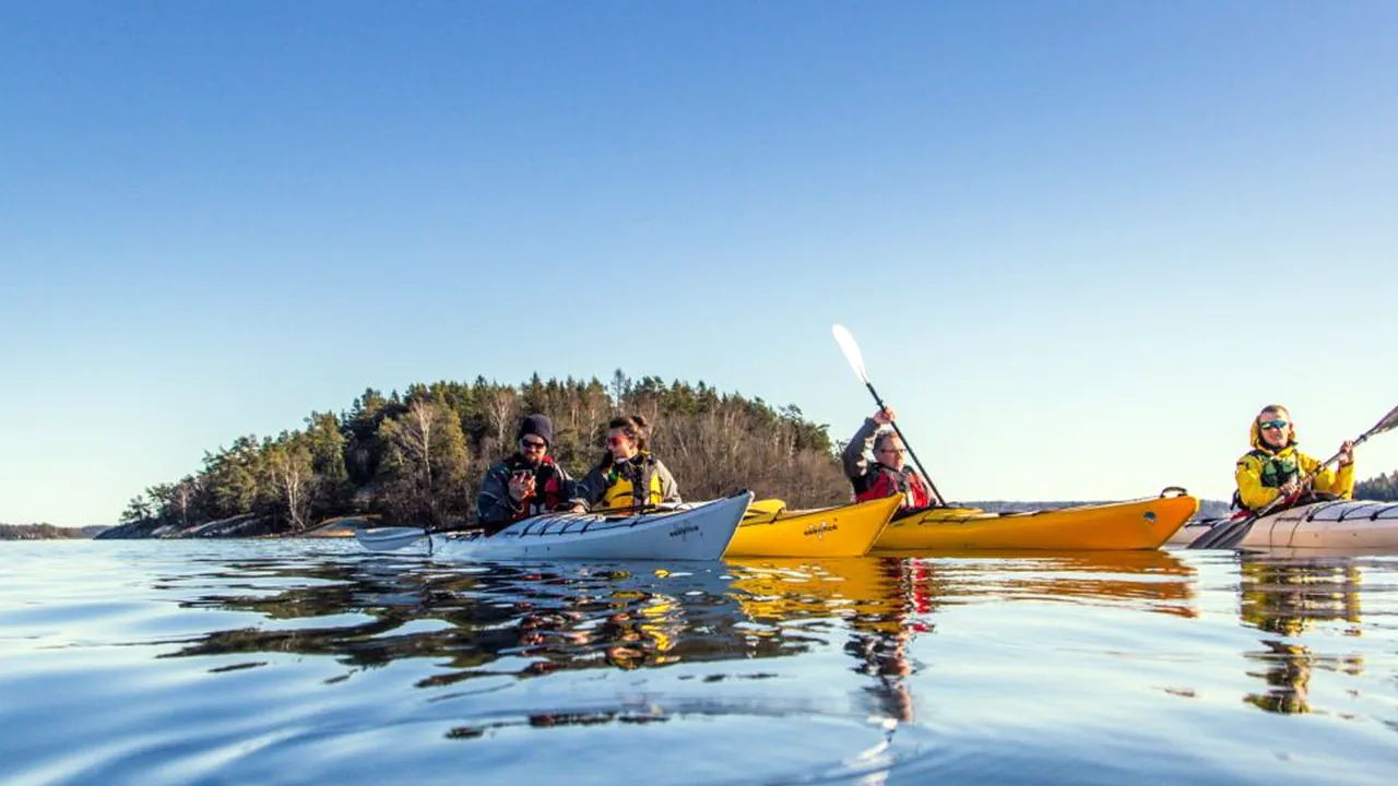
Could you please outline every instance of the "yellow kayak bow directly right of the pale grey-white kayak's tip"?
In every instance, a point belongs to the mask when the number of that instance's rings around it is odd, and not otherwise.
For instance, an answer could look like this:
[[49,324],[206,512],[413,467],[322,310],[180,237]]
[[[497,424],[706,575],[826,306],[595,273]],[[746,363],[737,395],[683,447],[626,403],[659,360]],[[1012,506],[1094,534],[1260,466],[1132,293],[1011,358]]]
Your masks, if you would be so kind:
[[780,501],[754,502],[724,557],[861,557],[888,526],[903,495],[821,508],[787,510]]

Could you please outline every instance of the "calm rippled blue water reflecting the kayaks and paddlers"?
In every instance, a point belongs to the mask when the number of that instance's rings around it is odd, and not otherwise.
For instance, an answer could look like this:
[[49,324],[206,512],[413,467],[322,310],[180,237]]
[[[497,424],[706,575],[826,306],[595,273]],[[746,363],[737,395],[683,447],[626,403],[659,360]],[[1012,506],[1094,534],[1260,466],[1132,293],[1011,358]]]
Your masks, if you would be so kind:
[[3,783],[1390,783],[1398,558],[0,544]]

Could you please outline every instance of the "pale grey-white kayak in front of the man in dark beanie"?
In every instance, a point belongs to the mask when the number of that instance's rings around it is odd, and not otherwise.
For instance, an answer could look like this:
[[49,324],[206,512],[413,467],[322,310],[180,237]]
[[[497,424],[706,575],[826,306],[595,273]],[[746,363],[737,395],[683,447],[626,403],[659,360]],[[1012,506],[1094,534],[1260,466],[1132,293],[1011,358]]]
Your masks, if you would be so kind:
[[545,513],[491,537],[432,536],[439,559],[719,559],[752,492],[633,516]]

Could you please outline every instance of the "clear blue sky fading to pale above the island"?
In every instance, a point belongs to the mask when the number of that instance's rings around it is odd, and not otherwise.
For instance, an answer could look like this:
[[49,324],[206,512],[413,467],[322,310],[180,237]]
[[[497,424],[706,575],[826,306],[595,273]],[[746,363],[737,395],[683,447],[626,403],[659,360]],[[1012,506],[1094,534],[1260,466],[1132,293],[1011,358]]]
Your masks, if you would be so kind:
[[[0,520],[366,386],[705,380],[951,499],[1398,403],[1398,4],[0,4]],[[1398,469],[1398,436],[1359,453]],[[682,480],[682,478],[681,478]]]

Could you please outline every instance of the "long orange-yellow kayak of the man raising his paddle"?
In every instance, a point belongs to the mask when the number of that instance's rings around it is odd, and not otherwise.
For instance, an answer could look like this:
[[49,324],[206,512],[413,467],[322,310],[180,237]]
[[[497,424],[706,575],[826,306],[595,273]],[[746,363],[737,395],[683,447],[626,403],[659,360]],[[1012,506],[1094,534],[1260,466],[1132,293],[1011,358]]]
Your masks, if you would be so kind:
[[932,508],[892,522],[874,551],[1159,548],[1198,509],[1199,501],[1177,487],[1153,498],[1050,510]]

